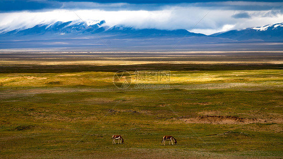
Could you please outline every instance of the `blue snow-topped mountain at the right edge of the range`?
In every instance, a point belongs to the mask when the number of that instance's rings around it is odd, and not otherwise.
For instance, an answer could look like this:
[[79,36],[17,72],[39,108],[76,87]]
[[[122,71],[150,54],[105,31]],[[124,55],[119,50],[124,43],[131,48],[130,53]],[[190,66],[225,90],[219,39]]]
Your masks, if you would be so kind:
[[219,37],[219,38],[229,38],[234,40],[250,40],[250,41],[283,40],[283,23],[270,24],[262,27],[231,30],[227,32],[212,34],[210,36]]

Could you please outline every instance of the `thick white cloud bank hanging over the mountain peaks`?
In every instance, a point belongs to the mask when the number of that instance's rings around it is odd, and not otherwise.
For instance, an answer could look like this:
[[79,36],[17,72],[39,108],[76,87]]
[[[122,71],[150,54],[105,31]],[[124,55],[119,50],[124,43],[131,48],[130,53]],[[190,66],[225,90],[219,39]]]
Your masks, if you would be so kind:
[[[241,29],[283,22],[283,15],[281,12],[273,10],[245,11],[250,15],[250,18],[240,20],[232,18],[233,15],[242,12],[243,11],[217,10],[193,6],[167,6],[158,11],[103,11],[97,9],[53,10],[45,12],[26,11],[0,13],[0,30],[13,30],[24,26],[26,28],[31,28],[36,24],[51,23],[55,21],[67,22],[80,20],[77,15],[84,21],[88,21],[88,23],[92,20],[105,20],[110,27],[122,24],[140,29],[187,29],[195,33],[204,34],[213,34],[231,29]],[[204,15],[206,16],[204,17]]]

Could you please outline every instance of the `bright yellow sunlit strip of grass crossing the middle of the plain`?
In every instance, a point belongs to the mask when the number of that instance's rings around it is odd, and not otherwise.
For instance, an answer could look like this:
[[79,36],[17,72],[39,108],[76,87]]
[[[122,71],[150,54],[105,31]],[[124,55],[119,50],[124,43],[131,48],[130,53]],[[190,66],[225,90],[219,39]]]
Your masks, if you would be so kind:
[[[129,71],[133,84],[136,74]],[[155,78],[144,81],[151,84],[210,84],[239,83],[261,86],[278,86],[283,80],[282,70],[225,70],[225,71],[170,71],[169,81]],[[113,88],[115,72],[73,72],[73,73],[2,73],[2,87],[91,87]]]

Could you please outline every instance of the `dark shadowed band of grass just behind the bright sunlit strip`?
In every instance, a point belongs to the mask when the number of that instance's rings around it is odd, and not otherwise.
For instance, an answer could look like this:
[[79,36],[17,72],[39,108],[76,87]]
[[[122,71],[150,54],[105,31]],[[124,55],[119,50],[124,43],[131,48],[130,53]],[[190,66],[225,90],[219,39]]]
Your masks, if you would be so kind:
[[[82,63],[82,62],[79,62]],[[145,63],[145,64],[114,64],[114,65],[91,65],[91,64],[3,64],[0,65],[0,73],[61,73],[61,72],[82,72],[82,71],[104,71],[116,72],[119,70],[135,71],[135,70],[172,70],[172,71],[186,71],[186,70],[254,70],[254,69],[282,69],[283,64],[272,63],[224,63],[224,64],[210,64],[210,63]]]

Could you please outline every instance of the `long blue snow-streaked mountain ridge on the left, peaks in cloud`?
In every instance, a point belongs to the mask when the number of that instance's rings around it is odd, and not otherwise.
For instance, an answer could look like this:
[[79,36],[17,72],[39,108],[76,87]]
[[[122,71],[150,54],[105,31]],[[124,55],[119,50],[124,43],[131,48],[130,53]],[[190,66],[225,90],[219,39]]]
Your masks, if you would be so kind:
[[39,24],[29,29],[16,29],[1,33],[0,36],[47,36],[47,35],[72,35],[84,36],[101,33],[118,37],[152,37],[152,36],[205,36],[204,34],[190,33],[185,29],[178,30],[159,30],[159,29],[135,29],[123,25],[109,27],[105,21],[97,22],[93,25],[87,25],[84,22],[55,22],[52,24]]

